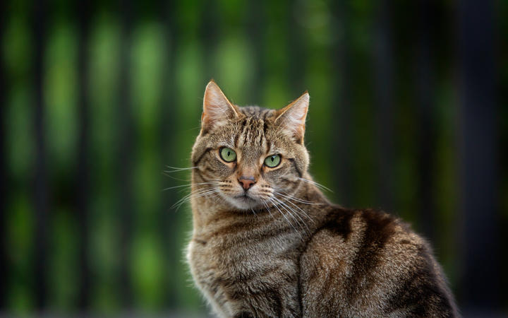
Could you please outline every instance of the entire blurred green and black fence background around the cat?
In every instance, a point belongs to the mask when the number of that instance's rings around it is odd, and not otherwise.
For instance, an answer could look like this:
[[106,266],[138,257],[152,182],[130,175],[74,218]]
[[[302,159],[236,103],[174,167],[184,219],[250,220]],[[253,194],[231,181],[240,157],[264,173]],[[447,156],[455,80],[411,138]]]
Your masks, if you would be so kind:
[[309,90],[327,196],[412,223],[464,314],[508,313],[508,1],[0,6],[0,313],[207,314],[163,189],[210,78],[238,105]]

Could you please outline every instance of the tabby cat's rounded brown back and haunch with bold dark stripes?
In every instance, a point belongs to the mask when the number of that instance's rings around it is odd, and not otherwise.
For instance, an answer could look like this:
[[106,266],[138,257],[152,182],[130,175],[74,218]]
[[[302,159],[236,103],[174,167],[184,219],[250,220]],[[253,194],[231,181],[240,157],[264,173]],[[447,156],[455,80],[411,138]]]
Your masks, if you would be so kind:
[[332,208],[301,255],[303,317],[454,317],[428,243],[375,210]]

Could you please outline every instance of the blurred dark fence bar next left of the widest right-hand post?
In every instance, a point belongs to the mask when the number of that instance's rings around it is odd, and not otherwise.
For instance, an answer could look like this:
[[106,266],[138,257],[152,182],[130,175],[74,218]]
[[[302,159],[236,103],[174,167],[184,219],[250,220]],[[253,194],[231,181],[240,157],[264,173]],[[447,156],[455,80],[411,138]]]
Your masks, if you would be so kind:
[[418,55],[416,57],[416,86],[418,113],[418,220],[425,237],[435,238],[434,149],[435,107],[433,87],[432,25],[435,1],[419,1],[418,6]]

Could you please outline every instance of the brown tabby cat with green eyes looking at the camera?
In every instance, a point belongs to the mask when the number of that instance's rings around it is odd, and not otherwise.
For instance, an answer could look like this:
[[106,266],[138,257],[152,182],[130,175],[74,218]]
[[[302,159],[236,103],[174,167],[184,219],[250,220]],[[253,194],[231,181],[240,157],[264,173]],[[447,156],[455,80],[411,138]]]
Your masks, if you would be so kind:
[[238,107],[210,81],[193,146],[191,274],[219,317],[457,317],[428,242],[331,204],[308,174],[309,95]]

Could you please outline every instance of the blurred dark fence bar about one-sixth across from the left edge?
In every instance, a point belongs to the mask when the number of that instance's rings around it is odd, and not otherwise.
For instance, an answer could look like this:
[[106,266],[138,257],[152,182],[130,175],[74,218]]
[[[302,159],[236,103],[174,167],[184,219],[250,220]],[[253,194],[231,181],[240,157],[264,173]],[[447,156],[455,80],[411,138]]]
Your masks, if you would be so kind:
[[79,1],[77,5],[79,17],[78,35],[78,178],[76,179],[78,208],[78,249],[79,249],[79,291],[78,307],[86,310],[90,306],[90,264],[88,260],[88,201],[90,189],[90,134],[89,134],[89,103],[88,103],[88,71],[87,47],[90,20],[90,2]]

